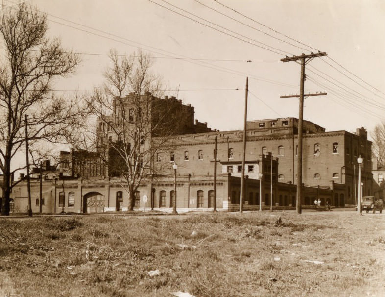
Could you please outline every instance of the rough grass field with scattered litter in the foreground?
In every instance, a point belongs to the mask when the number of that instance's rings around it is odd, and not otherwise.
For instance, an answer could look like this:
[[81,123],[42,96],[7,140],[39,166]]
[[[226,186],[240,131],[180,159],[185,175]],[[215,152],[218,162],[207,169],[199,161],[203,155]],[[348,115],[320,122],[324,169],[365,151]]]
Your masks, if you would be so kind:
[[[385,215],[0,220],[0,296],[385,296]],[[159,275],[148,272],[159,270]]]

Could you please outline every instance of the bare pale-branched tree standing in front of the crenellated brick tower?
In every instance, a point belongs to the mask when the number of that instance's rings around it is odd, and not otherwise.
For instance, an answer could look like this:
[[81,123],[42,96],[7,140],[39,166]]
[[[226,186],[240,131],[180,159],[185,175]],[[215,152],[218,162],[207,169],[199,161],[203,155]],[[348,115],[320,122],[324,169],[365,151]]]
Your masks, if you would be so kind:
[[105,176],[116,177],[128,192],[130,210],[141,181],[171,167],[160,154],[170,150],[170,136],[180,129],[175,115],[184,116],[183,105],[176,99],[159,98],[162,83],[150,72],[151,58],[141,51],[134,56],[119,57],[111,50],[112,65],[104,73],[105,83],[88,100],[97,116],[95,149],[108,168]]

